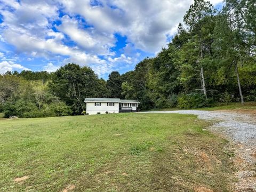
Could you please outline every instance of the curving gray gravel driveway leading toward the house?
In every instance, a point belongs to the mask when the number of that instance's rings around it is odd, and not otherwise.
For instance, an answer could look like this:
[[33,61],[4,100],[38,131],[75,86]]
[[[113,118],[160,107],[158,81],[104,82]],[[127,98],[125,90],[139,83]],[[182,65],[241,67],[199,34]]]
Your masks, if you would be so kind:
[[146,111],[141,113],[175,113],[197,115],[199,119],[215,121],[209,129],[232,141],[235,157],[231,158],[236,168],[238,181],[235,191],[256,192],[256,119],[255,116],[203,110]]

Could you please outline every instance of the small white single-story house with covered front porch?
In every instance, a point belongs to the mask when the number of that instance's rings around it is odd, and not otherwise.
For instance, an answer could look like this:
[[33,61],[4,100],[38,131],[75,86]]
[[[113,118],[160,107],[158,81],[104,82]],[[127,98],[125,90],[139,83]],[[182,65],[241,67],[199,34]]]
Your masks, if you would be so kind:
[[115,98],[85,98],[86,113],[89,115],[108,113],[135,112],[138,110],[138,100]]

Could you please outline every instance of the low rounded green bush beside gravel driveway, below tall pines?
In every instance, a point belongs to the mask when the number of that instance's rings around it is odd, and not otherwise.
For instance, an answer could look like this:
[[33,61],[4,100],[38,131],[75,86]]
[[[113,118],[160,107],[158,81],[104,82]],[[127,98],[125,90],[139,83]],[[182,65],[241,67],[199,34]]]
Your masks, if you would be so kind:
[[206,99],[205,95],[200,93],[180,94],[178,96],[178,107],[184,109],[207,107],[212,102],[212,99]]

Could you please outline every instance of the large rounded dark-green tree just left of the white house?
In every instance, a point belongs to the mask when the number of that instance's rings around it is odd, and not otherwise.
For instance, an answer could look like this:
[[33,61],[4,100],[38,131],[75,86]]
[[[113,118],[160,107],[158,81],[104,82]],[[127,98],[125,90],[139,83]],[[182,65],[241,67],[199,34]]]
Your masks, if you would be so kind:
[[55,71],[49,85],[52,93],[66,102],[74,115],[84,111],[86,97],[95,97],[101,92],[100,82],[94,71],[74,63],[68,63]]

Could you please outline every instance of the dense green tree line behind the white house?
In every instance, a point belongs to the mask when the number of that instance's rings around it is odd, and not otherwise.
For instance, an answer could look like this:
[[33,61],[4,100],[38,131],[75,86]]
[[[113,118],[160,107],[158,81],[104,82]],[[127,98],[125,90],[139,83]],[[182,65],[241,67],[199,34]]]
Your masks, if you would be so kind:
[[254,0],[226,0],[221,10],[195,0],[172,42],[133,71],[113,71],[107,81],[74,63],[54,73],[8,71],[0,76],[0,111],[80,115],[86,97],[138,99],[140,109],[256,101],[255,18]]

